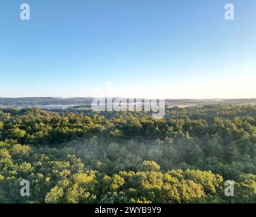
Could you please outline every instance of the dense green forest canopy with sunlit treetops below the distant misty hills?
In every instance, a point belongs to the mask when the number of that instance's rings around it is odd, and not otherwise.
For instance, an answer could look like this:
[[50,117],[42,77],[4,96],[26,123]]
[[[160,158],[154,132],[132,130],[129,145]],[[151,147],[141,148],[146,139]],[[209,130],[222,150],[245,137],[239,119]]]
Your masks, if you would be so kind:
[[256,203],[256,106],[0,109],[0,203]]

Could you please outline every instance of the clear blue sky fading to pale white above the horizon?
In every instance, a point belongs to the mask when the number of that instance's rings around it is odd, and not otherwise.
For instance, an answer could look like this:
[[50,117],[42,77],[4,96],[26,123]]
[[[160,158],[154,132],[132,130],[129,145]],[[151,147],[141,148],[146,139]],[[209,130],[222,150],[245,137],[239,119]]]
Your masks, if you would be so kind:
[[[31,20],[20,20],[29,3]],[[235,20],[224,19],[234,3]],[[1,0],[0,97],[256,98],[255,0]]]

